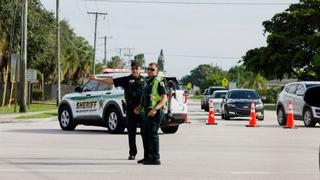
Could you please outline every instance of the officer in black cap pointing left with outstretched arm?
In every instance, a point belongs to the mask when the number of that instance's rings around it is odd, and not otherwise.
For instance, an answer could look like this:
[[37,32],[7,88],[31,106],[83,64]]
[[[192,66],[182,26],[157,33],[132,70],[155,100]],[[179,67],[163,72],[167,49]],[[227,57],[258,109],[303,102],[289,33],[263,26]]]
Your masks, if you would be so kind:
[[[144,149],[145,139],[144,139],[144,130],[143,130],[143,121],[145,119],[144,114],[134,113],[134,109],[138,107],[141,103],[142,92],[146,85],[146,79],[140,74],[141,66],[138,62],[131,62],[131,75],[115,78],[115,79],[103,79],[97,78],[96,76],[90,76],[90,79],[97,80],[99,82],[114,84],[114,86],[123,87],[126,101],[126,121],[127,121],[127,130],[128,130],[128,139],[129,139],[129,157],[128,160],[134,160],[137,155],[137,146],[136,146],[136,133],[137,126],[140,125],[141,136]],[[147,158],[147,152],[145,150],[144,159]]]

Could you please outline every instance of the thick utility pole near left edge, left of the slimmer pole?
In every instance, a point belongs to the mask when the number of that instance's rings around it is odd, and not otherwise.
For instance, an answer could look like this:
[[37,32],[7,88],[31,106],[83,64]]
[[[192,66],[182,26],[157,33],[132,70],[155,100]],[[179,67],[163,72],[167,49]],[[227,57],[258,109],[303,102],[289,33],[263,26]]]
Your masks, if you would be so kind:
[[28,0],[23,0],[22,27],[21,27],[21,65],[20,65],[20,109],[19,112],[27,112],[26,100],[26,71],[27,71],[27,25],[28,25]]

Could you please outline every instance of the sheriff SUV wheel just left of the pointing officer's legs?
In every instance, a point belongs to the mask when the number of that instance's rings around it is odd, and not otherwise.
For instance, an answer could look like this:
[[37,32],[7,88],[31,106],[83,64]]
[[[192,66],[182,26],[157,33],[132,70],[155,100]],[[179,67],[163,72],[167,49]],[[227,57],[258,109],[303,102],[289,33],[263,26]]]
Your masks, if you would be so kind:
[[105,120],[108,131],[112,134],[123,133],[124,125],[119,111],[116,108],[110,108],[106,112]]

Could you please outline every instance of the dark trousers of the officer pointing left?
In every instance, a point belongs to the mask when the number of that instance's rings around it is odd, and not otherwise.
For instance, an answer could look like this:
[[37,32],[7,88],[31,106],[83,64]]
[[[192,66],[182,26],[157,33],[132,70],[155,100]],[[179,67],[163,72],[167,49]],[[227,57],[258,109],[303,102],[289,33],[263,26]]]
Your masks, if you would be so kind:
[[129,139],[129,155],[136,156],[137,155],[137,145],[136,145],[136,134],[137,134],[137,126],[140,125],[140,132],[142,137],[142,143],[144,148],[144,157],[147,157],[146,151],[146,141],[144,139],[144,123],[145,120],[144,114],[135,114],[134,108],[129,107],[127,111],[127,130],[128,130],[128,139]]

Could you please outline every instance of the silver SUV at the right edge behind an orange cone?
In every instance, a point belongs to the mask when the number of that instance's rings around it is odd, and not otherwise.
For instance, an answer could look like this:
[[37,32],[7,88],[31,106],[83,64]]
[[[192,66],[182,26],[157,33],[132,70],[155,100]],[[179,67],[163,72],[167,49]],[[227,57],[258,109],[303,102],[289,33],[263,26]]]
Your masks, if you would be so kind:
[[278,96],[277,119],[281,126],[286,125],[288,103],[292,101],[293,115],[296,120],[303,120],[306,127],[320,123],[319,81],[304,81],[287,84]]

